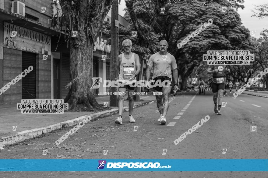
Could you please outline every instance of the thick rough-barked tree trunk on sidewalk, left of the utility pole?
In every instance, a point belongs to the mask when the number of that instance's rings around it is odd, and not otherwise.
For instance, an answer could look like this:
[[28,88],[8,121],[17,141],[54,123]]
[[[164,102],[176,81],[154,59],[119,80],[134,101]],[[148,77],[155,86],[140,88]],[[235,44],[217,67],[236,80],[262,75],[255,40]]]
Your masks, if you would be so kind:
[[[70,111],[102,109],[90,89],[93,74],[93,47],[111,2],[112,0],[59,0],[65,29],[69,33],[67,39],[70,48],[71,80],[83,71],[88,71],[70,86],[64,100],[69,103]],[[95,15],[96,18],[93,18]],[[61,25],[59,20],[58,25]],[[76,38],[71,37],[72,31],[78,32]]]

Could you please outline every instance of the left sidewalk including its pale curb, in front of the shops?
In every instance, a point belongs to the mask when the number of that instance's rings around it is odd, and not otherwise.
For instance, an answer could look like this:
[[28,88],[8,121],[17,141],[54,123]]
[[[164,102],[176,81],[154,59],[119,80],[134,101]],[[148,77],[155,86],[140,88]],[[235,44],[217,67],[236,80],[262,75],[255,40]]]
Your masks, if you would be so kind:
[[[99,104],[103,104],[103,102],[109,102],[109,96],[96,97],[96,100]],[[134,101],[134,107],[143,106],[155,100],[155,96],[143,96],[141,101]],[[124,101],[124,106],[127,106],[124,110],[128,108],[127,100]],[[0,147],[43,136],[53,130],[74,126],[87,116],[96,119],[118,113],[118,107],[110,108],[102,112],[65,111],[63,114],[21,114],[21,110],[16,109],[16,104],[0,105]],[[17,126],[16,131],[12,131],[12,126]]]

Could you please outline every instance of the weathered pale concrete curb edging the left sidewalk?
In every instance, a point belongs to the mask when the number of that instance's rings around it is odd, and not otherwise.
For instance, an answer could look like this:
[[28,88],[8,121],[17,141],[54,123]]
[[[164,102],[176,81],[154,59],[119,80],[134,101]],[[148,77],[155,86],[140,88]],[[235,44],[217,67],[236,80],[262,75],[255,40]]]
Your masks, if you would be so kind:
[[[134,107],[136,108],[136,107],[144,106],[146,104],[151,104],[154,101],[155,100],[150,100],[150,101],[146,101],[146,102],[143,102],[140,104],[136,104],[136,105],[134,104]],[[125,110],[127,108],[128,107],[124,107],[123,110]],[[86,119],[87,116],[90,116],[92,118],[92,121],[93,121],[96,118],[110,116],[110,115],[115,114],[115,113],[118,113],[118,109],[110,109],[110,110],[106,110],[106,111],[101,111],[98,113],[80,116],[80,117],[77,117],[75,119],[66,120],[66,121],[61,122],[61,123],[52,124],[50,126],[41,127],[41,128],[37,128],[37,129],[31,129],[31,130],[25,130],[22,132],[11,134],[9,136],[0,137],[0,149],[3,149],[6,146],[15,145],[16,143],[25,141],[27,139],[33,139],[33,138],[45,136],[48,133],[55,131],[55,130],[75,126],[79,122],[81,122],[83,119]]]

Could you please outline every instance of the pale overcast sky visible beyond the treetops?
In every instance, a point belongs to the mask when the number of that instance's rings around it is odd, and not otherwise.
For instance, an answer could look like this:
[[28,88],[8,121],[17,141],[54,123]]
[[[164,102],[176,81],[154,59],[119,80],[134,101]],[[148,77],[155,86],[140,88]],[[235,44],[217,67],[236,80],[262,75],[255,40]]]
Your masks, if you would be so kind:
[[[238,13],[240,14],[240,17],[242,19],[243,25],[248,28],[250,31],[257,31],[256,35],[254,37],[259,38],[260,32],[263,29],[268,29],[268,17],[264,17],[263,19],[259,19],[257,17],[251,17],[253,12],[251,10],[254,9],[254,5],[263,5],[267,4],[268,0],[245,0],[244,6],[245,8],[238,9]],[[121,5],[119,5],[118,12],[120,15],[124,16],[125,11],[123,9],[125,8],[125,1],[121,0]]]

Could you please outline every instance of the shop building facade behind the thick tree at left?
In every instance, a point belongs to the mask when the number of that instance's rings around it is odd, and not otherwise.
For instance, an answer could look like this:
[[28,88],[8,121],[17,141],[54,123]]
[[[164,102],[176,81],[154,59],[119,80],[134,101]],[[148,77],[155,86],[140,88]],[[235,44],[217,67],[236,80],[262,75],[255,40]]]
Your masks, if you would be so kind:
[[[0,104],[67,95],[70,53],[64,37],[58,43],[61,32],[51,23],[55,9],[52,0],[0,0]],[[125,19],[122,23],[129,24]],[[108,79],[110,50],[102,34],[95,42],[93,77]],[[102,55],[107,60],[102,61]]]

